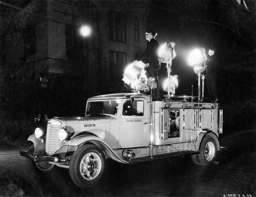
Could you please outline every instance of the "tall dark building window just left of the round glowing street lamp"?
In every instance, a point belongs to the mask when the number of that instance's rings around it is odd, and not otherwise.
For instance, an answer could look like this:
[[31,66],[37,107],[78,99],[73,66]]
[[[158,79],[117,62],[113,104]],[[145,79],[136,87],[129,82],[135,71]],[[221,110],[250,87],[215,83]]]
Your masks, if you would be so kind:
[[74,59],[77,57],[77,28],[66,24],[66,57]]

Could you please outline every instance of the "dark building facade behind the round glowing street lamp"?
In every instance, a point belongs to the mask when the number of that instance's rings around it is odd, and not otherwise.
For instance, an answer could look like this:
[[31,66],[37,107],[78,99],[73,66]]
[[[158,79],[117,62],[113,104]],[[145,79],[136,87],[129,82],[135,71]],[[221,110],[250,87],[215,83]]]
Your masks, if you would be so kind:
[[[18,15],[29,17],[4,36],[7,65],[32,65],[46,77],[79,76],[90,94],[123,91],[125,66],[146,46],[144,1],[49,0],[23,8]],[[88,37],[79,34],[81,25],[90,26]]]

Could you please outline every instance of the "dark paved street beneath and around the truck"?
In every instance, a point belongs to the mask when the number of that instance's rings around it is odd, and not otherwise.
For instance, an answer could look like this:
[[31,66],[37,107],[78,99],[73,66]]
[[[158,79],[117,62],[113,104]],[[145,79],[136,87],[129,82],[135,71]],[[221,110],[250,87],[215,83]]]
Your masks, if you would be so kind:
[[189,157],[135,165],[108,161],[102,183],[77,187],[68,169],[53,168],[35,177],[17,149],[0,150],[0,196],[193,196],[256,197],[256,133],[238,132],[221,139],[215,165],[195,166]]

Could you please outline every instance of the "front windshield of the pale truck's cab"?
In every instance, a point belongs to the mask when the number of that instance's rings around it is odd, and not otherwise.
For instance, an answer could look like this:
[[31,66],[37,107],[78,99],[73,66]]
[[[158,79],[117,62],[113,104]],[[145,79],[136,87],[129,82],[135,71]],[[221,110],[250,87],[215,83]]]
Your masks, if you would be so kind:
[[111,114],[116,115],[118,101],[90,101],[87,103],[85,115]]

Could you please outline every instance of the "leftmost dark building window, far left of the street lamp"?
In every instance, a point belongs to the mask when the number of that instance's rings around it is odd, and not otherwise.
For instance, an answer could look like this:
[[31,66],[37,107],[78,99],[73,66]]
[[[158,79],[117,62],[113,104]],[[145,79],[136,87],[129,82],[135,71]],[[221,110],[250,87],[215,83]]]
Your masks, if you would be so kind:
[[24,57],[29,55],[34,55],[36,52],[35,48],[35,25],[29,26],[26,29],[23,29],[23,48],[24,48]]

